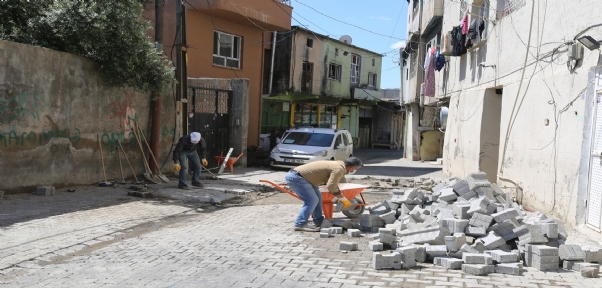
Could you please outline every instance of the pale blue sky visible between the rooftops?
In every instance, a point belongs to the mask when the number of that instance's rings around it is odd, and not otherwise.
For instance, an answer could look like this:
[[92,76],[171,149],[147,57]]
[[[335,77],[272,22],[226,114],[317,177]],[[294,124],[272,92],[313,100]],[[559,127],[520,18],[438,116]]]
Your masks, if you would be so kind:
[[335,39],[349,35],[351,44],[385,54],[380,87],[401,86],[399,48],[405,44],[407,1],[291,0],[291,6],[292,25]]

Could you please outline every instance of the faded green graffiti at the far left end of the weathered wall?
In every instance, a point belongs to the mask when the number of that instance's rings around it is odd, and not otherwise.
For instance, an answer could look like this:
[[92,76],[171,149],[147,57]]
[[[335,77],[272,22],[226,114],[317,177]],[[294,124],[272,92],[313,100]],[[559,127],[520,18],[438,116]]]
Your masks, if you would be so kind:
[[40,113],[46,111],[50,104],[44,96],[33,93],[21,93],[17,96],[0,99],[0,124],[10,123],[12,121],[40,120]]

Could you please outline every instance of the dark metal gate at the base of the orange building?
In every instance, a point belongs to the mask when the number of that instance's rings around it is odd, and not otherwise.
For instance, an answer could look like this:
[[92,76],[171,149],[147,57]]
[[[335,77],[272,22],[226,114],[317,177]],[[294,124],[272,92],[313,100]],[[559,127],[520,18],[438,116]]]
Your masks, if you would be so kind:
[[213,156],[224,156],[230,149],[232,90],[188,86],[192,102],[188,105],[190,132],[200,132],[207,143],[209,167],[216,167]]

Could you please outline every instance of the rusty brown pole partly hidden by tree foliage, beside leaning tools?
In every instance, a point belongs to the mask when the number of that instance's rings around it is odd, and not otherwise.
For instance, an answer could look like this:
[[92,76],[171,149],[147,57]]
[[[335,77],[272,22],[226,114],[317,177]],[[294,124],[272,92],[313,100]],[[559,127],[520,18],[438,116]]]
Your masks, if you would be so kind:
[[[155,42],[158,51],[163,51],[163,6],[162,0],[155,0]],[[161,92],[154,91],[151,96],[151,131],[150,150],[152,155],[159,156],[159,142],[161,141]],[[159,172],[156,161],[151,161],[149,155],[148,163],[153,173]]]

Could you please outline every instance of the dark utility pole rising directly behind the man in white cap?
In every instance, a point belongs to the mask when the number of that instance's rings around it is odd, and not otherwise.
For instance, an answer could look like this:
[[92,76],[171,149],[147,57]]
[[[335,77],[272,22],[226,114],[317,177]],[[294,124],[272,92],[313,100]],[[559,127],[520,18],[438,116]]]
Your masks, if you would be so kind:
[[176,103],[178,105],[177,127],[182,135],[188,134],[188,74],[186,62],[186,7],[182,0],[176,0]]

